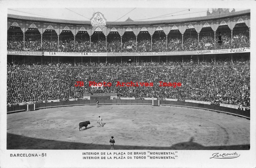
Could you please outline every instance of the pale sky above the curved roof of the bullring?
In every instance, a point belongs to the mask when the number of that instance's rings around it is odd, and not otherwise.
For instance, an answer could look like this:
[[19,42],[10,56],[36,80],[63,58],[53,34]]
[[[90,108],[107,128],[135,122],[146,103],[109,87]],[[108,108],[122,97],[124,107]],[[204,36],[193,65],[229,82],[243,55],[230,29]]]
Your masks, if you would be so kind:
[[[90,20],[94,12],[101,12],[107,21],[125,21],[130,17],[134,21],[166,20],[206,16],[212,8],[9,8],[8,14],[44,17],[64,20]],[[233,8],[229,9],[229,12]],[[236,9],[241,11],[245,9]]]

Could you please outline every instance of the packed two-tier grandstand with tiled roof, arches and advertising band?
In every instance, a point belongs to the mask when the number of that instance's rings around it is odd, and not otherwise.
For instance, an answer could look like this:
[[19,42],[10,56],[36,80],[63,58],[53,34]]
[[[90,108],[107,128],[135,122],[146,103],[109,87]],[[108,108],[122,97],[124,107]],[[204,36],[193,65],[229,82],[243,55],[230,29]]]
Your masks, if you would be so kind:
[[[107,22],[104,31],[86,21],[8,14],[7,104],[117,93],[249,108],[250,52],[244,52],[250,51],[249,20],[250,10],[244,10],[181,20]],[[49,52],[54,55],[46,56]],[[75,87],[76,81],[84,81],[84,87]],[[94,89],[89,81],[113,85]],[[118,87],[117,81],[154,86]],[[159,87],[159,81],[182,86]]]

